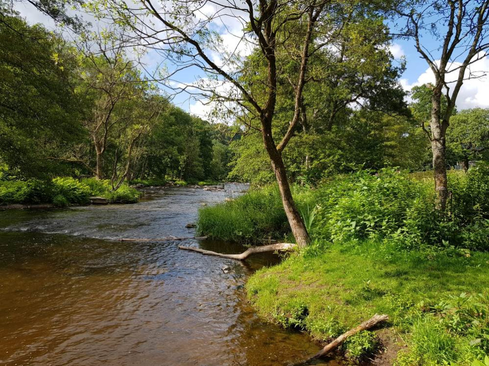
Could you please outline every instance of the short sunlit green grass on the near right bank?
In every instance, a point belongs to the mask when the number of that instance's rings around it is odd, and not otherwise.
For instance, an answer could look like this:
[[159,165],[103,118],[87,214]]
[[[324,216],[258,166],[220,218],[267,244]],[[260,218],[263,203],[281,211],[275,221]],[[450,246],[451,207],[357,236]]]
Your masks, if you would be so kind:
[[[336,337],[376,313],[388,314],[408,345],[399,365],[462,366],[489,352],[488,270],[488,253],[406,251],[373,241],[316,244],[258,271],[246,288],[263,317],[298,325],[314,338]],[[361,354],[358,343],[347,344],[347,353]]]

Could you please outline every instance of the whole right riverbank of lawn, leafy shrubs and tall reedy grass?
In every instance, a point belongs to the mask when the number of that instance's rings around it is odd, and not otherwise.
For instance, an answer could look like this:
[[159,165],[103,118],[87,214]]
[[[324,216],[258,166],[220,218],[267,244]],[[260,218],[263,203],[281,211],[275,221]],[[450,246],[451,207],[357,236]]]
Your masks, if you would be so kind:
[[[254,274],[251,303],[321,340],[388,314],[387,331],[345,345],[354,360],[378,352],[380,336],[384,365],[480,366],[489,354],[488,169],[453,172],[449,182],[447,215],[423,175],[386,169],[294,188],[313,244]],[[198,222],[200,234],[247,242],[283,238],[284,223],[274,188],[205,207]]]

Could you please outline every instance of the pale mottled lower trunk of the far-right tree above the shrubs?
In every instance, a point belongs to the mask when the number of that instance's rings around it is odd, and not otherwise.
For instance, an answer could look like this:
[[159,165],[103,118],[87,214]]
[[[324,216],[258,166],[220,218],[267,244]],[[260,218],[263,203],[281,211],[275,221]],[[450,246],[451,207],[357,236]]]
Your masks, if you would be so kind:
[[440,123],[441,89],[433,92],[430,128],[432,134],[433,173],[435,178],[436,206],[445,211],[448,199],[448,181],[446,178],[445,158],[445,121]]

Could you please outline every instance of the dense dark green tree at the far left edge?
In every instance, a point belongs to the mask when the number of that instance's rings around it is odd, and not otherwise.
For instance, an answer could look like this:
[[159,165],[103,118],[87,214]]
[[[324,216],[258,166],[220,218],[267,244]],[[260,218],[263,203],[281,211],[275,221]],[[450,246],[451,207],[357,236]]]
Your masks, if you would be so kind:
[[59,174],[65,166],[48,157],[85,137],[76,58],[41,25],[0,17],[0,160],[24,177]]

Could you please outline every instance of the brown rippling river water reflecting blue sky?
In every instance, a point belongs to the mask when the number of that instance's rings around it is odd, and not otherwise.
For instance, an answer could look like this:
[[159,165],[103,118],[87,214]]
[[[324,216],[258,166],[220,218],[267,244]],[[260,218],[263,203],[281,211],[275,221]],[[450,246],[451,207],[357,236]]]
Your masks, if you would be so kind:
[[239,263],[181,242],[116,241],[193,236],[185,224],[202,203],[242,189],[161,188],[131,205],[0,212],[0,365],[267,366],[314,354],[307,335],[268,324],[246,301],[246,278],[277,263],[273,254]]

